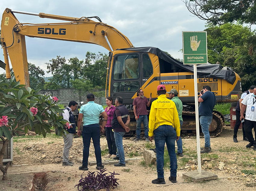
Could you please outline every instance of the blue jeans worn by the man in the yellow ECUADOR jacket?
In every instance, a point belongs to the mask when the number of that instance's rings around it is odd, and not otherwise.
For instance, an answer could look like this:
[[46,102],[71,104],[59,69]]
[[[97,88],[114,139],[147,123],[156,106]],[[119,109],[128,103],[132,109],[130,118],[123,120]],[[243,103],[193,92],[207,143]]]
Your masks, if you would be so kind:
[[173,126],[161,125],[155,129],[157,177],[164,178],[164,145],[166,143],[170,157],[170,176],[177,176],[177,158],[175,154],[176,131]]

